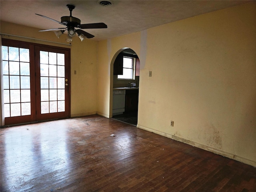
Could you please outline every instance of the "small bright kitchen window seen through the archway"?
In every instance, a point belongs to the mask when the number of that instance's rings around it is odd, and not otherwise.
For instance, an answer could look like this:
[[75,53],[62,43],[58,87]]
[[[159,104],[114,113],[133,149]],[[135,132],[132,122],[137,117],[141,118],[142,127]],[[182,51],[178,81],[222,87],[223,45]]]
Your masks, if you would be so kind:
[[135,69],[135,58],[123,57],[123,74],[118,75],[118,79],[134,79],[134,69]]

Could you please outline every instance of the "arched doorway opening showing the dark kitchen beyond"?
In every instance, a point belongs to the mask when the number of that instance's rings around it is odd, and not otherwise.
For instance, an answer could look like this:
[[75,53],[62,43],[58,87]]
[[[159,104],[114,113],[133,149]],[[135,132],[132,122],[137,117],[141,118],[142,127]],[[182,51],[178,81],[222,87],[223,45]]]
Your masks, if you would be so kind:
[[140,60],[130,48],[114,61],[112,118],[137,126]]

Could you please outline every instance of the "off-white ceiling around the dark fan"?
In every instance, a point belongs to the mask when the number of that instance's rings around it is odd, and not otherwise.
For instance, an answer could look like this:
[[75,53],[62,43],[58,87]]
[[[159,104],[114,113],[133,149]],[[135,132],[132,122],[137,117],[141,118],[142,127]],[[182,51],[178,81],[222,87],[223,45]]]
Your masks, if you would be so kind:
[[60,21],[69,16],[66,4],[76,8],[72,16],[81,24],[104,22],[108,28],[86,29],[92,40],[104,40],[175,22],[192,16],[247,3],[245,0],[111,0],[112,6],[101,6],[98,0],[0,0],[0,19],[40,30],[63,25],[35,15]]

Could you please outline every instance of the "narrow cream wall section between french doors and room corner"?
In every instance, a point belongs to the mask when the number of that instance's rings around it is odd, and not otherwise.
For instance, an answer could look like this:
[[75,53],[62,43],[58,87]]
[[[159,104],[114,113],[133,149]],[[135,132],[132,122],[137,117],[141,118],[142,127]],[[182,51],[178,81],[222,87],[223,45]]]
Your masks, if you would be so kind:
[[[74,38],[73,38],[74,39]],[[86,41],[85,41],[86,40]],[[84,116],[97,112],[97,44],[85,39],[71,48],[71,116]],[[80,42],[79,42],[80,41]],[[79,46],[75,46],[79,45]],[[76,74],[74,74],[76,70]]]

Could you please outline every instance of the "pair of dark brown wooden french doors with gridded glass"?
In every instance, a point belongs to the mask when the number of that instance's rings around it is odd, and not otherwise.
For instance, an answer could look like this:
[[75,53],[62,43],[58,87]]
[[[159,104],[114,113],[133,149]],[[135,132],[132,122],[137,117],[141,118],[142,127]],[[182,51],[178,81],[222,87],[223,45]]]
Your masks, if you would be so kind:
[[5,124],[70,116],[70,50],[2,39]]

